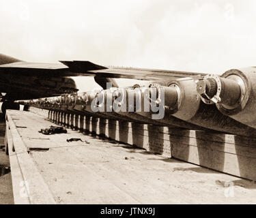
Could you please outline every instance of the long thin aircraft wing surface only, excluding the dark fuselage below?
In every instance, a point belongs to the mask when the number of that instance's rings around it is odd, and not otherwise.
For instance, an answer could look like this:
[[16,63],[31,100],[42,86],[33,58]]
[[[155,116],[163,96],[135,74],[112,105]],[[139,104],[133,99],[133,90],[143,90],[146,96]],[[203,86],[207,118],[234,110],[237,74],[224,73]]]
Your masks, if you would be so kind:
[[30,63],[18,61],[0,65],[0,74],[24,76],[97,76],[100,78],[132,78],[138,80],[169,80],[198,75],[196,72],[180,72],[163,69],[132,67],[104,67],[90,61],[60,61],[61,63]]

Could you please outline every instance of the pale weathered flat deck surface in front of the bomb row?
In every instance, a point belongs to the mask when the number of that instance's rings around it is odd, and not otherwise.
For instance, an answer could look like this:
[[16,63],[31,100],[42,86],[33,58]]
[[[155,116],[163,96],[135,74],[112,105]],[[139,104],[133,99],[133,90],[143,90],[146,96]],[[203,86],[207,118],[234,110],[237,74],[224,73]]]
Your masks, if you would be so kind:
[[[42,116],[12,117],[58,204],[256,203],[251,181],[70,129],[44,136],[38,130],[53,123]],[[66,142],[70,137],[83,142]]]

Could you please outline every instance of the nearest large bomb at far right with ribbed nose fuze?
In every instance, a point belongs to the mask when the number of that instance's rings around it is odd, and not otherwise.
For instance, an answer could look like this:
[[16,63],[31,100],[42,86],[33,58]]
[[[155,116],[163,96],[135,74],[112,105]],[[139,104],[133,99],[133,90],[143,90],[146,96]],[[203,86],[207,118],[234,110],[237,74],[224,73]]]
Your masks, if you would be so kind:
[[222,114],[256,127],[256,68],[230,69],[222,76],[208,75],[197,82],[205,104],[216,104]]

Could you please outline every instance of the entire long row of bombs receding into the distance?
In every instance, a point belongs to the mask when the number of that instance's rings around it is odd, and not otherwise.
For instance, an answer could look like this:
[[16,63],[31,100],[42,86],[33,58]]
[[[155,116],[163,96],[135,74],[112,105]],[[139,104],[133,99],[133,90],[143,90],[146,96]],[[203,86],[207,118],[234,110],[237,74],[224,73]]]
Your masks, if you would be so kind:
[[[141,103],[139,109],[137,102]],[[28,106],[106,119],[248,137],[256,137],[255,102],[254,67],[231,69],[222,76],[179,78],[147,87],[111,88],[18,101]]]

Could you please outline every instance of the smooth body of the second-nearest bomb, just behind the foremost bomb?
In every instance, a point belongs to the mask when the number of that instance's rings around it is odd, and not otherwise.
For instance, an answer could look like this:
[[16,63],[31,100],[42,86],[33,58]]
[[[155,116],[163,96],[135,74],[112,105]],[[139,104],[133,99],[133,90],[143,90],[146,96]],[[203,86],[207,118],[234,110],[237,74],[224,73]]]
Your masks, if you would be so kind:
[[179,119],[216,131],[241,136],[256,136],[256,129],[248,127],[219,112],[215,104],[203,104],[197,95],[197,86],[193,80],[180,82],[181,106],[173,114]]

